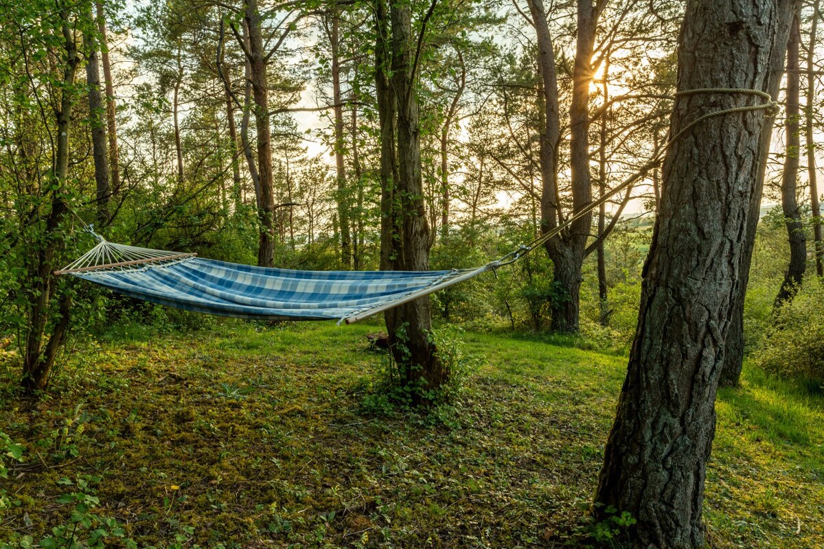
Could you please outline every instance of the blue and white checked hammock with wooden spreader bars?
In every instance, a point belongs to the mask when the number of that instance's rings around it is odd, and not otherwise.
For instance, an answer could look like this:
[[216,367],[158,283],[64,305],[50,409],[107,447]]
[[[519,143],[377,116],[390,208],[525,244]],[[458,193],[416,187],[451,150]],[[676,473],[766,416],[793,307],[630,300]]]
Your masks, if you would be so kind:
[[498,265],[452,271],[293,271],[113,244],[56,274],[71,274],[139,300],[241,319],[353,323]]

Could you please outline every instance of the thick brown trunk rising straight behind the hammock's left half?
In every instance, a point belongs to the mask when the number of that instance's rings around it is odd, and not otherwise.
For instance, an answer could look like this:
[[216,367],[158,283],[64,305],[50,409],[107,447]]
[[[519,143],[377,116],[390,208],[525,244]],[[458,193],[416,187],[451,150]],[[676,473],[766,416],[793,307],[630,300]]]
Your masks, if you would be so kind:
[[274,267],[274,179],[272,174],[272,136],[269,129],[269,84],[260,12],[257,0],[246,2],[246,28],[249,30],[249,65],[252,95],[255,99],[257,168],[260,187],[260,241],[258,265]]

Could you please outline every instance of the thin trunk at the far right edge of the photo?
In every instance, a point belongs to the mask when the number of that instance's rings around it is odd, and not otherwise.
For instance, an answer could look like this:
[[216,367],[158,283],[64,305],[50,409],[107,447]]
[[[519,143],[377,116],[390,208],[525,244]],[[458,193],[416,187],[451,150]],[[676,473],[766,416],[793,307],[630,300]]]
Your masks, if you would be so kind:
[[805,105],[805,142],[807,146],[807,174],[810,185],[810,204],[812,206],[812,238],[815,246],[816,273],[824,277],[824,225],[822,225],[821,198],[818,194],[818,174],[816,170],[816,141],[813,133],[813,106],[816,96],[815,80],[815,49],[818,38],[818,14],[821,12],[821,2],[816,0],[812,5],[812,23],[810,26],[810,43],[807,51],[807,105]]

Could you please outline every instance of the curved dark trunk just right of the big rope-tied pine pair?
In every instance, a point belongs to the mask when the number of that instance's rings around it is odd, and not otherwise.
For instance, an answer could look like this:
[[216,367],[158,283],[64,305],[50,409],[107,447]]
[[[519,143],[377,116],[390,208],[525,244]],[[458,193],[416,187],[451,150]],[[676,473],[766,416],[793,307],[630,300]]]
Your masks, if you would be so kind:
[[784,212],[784,226],[787,227],[789,239],[789,265],[784,272],[784,281],[778,295],[775,297],[775,308],[780,308],[785,302],[793,300],[795,292],[801,286],[804,271],[807,269],[807,235],[804,234],[804,223],[801,221],[801,212],[798,211],[798,155],[801,152],[801,142],[798,125],[800,109],[799,103],[799,75],[798,49],[801,45],[801,29],[798,14],[793,18],[793,25],[789,31],[787,44],[787,121],[786,150],[784,151],[784,173],[781,177],[781,210]]

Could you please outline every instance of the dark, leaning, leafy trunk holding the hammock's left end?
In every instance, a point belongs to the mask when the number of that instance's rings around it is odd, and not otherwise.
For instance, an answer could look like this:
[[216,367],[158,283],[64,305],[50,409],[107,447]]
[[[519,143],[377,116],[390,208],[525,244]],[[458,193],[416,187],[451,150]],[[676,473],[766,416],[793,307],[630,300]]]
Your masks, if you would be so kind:
[[60,109],[57,113],[57,150],[54,154],[54,190],[52,191],[51,211],[46,218],[43,243],[35,251],[32,258],[30,275],[35,285],[31,295],[29,322],[26,332],[26,348],[23,356],[23,376],[21,385],[26,393],[34,393],[44,389],[49,383],[54,359],[63,343],[68,328],[68,315],[71,306],[69,294],[59,299],[59,319],[52,327],[48,342],[44,340],[49,328],[50,301],[54,297],[54,268],[55,260],[62,239],[59,227],[68,211],[63,196],[66,193],[66,177],[68,175],[68,134],[72,127],[72,111],[74,107],[73,84],[77,74],[77,46],[68,19],[68,10],[60,11],[63,20],[63,47],[66,52],[66,63],[63,69],[63,88],[60,100]]

